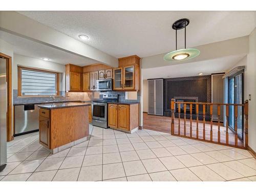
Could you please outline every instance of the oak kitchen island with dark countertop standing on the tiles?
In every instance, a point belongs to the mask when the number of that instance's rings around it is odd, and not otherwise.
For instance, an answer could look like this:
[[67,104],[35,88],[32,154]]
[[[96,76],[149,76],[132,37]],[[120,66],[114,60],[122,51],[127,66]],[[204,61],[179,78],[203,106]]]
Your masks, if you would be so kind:
[[89,135],[87,103],[38,105],[39,143],[55,154],[87,140]]

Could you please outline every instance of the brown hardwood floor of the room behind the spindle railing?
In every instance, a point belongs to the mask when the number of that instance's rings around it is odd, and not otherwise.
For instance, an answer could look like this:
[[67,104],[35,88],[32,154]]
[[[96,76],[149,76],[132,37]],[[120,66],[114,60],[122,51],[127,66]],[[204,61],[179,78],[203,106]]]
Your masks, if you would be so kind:
[[[157,115],[148,115],[147,113],[143,113],[143,127],[144,129],[160,131],[165,133],[170,133],[170,124],[171,118],[165,116],[157,116]],[[203,139],[203,122],[200,121],[198,124],[199,129],[199,138]],[[196,120],[192,122],[192,136],[196,138]],[[221,143],[226,142],[226,127],[221,123],[220,127],[221,133]],[[234,145],[234,134],[231,130],[229,130],[229,144]],[[178,118],[175,118],[175,134],[178,134]],[[190,122],[186,120],[186,136],[190,134]],[[180,135],[184,135],[184,119],[180,120]],[[210,122],[205,122],[205,139],[210,140]],[[212,140],[218,141],[218,124],[217,122],[213,123],[212,126]],[[238,140],[238,145],[243,146],[243,141]]]

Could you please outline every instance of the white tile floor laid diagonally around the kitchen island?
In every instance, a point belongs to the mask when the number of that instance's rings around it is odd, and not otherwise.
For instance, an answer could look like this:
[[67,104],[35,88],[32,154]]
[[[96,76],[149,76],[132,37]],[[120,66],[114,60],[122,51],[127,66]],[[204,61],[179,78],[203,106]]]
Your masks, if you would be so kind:
[[138,130],[126,134],[90,125],[90,139],[57,154],[38,132],[8,142],[1,181],[256,181],[246,150]]

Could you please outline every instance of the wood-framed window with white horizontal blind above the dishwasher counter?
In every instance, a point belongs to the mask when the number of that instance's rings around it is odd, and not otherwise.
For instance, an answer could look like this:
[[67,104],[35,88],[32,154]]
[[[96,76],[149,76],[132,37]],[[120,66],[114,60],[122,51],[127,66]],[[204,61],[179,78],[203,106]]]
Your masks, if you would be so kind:
[[58,95],[59,74],[18,67],[18,96]]

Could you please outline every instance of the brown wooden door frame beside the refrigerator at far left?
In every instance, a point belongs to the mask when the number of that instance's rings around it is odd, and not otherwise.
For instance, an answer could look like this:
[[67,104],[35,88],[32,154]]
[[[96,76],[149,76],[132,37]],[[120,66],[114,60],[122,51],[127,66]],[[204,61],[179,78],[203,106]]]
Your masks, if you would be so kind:
[[13,140],[12,134],[12,57],[0,52],[7,61],[7,141]]

